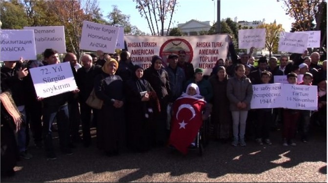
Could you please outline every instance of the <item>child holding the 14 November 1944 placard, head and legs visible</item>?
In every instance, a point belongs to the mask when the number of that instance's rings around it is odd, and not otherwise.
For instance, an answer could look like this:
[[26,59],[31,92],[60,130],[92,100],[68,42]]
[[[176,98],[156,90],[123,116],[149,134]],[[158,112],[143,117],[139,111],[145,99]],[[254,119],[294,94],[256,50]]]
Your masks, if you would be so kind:
[[[300,82],[299,84],[304,84],[304,85],[311,85],[313,80],[313,76],[311,73],[306,72],[303,75],[303,81]],[[307,142],[307,136],[308,136],[308,128],[310,124],[310,116],[311,116],[311,110],[300,110],[300,123],[299,123],[299,129],[301,132],[301,140],[302,142],[306,143]]]

